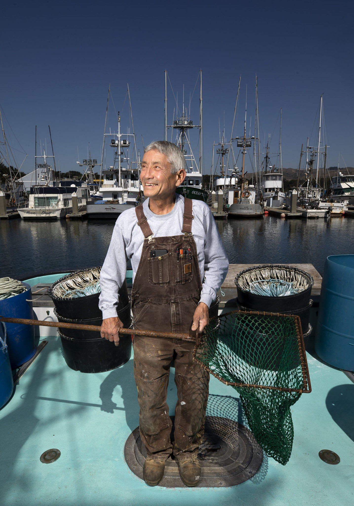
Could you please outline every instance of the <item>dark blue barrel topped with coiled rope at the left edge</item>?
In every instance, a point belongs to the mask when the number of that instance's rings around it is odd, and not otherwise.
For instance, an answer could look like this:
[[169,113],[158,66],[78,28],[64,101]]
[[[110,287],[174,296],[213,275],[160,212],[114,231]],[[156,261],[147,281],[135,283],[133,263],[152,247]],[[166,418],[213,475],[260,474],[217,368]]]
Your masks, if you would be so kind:
[[[23,283],[27,290],[14,297],[0,301],[0,315],[5,318],[25,318],[33,320],[31,287]],[[30,301],[30,302],[27,302]],[[8,350],[11,367],[20,367],[36,352],[34,345],[34,326],[19,323],[7,323]]]

